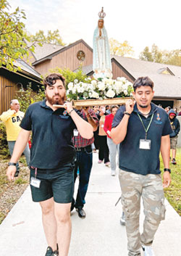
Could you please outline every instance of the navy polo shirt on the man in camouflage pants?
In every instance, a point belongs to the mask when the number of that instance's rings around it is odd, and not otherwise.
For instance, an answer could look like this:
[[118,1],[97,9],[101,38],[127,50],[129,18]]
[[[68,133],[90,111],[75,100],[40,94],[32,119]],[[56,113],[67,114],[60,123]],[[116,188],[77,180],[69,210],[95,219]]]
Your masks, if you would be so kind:
[[[122,106],[117,110],[112,123],[112,128],[119,125],[124,116],[124,112],[125,106]],[[153,114],[153,120],[147,134],[147,139],[151,140],[151,149],[139,149],[140,139],[145,139],[146,131],[143,128],[143,124],[137,113],[140,115],[146,128],[148,127],[148,124],[151,121],[151,115]],[[146,118],[141,115],[138,111],[137,104],[135,104],[134,110],[128,121],[127,135],[119,146],[119,168],[142,175],[147,175],[148,173],[161,173],[159,162],[161,136],[166,136],[170,133],[172,133],[172,127],[165,110],[151,103],[151,112],[148,115],[148,118]]]

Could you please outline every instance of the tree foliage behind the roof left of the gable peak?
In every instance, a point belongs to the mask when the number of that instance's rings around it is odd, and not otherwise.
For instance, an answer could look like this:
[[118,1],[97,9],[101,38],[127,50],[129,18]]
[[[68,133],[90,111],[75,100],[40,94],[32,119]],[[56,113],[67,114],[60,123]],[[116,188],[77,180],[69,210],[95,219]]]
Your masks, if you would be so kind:
[[48,30],[47,36],[45,35],[43,30],[39,30],[35,33],[35,35],[31,35],[32,41],[38,41],[41,43],[49,43],[49,44],[59,44],[64,46],[61,36],[59,35],[59,30],[56,29],[53,32]]

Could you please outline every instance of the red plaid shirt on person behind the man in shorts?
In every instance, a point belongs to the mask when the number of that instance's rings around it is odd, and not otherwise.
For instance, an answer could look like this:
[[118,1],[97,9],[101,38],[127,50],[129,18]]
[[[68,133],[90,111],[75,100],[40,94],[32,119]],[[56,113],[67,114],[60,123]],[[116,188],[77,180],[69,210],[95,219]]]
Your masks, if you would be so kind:
[[[98,117],[96,116],[95,112],[93,110],[88,110],[91,117],[93,117],[94,120],[96,120],[96,123],[98,125]],[[83,115],[83,119],[88,121],[85,112],[82,110],[81,114]],[[78,133],[78,136],[73,136],[72,138],[73,144],[75,147],[85,147],[88,145],[93,144],[94,138],[92,139],[84,139],[82,136],[80,136],[80,133]]]

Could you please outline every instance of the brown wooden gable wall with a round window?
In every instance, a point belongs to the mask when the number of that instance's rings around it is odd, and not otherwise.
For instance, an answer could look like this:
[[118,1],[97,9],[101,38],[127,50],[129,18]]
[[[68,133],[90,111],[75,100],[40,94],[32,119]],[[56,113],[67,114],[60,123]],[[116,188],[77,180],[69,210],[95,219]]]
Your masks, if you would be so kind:
[[[85,60],[80,62],[77,59],[77,51],[85,52]],[[56,56],[52,57],[51,60],[46,60],[38,65],[35,65],[35,70],[37,70],[41,75],[45,75],[50,69],[55,67],[69,68],[70,70],[76,70],[80,65],[87,66],[93,63],[93,52],[88,49],[85,44],[80,42],[69,49],[60,52]]]

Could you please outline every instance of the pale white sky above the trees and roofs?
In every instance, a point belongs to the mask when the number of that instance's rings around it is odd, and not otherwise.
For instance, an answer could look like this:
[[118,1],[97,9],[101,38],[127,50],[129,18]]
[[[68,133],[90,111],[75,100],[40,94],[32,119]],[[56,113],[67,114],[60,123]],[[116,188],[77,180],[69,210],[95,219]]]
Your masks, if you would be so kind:
[[83,39],[93,46],[98,12],[104,7],[104,25],[109,38],[128,41],[138,58],[153,44],[159,49],[181,49],[180,0],[8,0],[12,11],[25,10],[26,29],[59,30],[65,44]]

